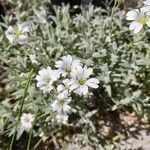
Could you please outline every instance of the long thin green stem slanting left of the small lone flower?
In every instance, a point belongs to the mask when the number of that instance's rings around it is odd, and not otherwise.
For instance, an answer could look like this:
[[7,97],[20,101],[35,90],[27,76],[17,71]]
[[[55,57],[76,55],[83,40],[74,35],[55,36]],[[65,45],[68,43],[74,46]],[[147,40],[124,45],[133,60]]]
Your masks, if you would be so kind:
[[29,87],[29,84],[30,84],[30,81],[31,81],[32,72],[33,72],[33,69],[30,71],[29,78],[28,78],[28,81],[27,81],[26,86],[25,86],[24,95],[23,95],[23,98],[22,98],[22,101],[21,101],[19,115],[18,115],[17,122],[16,122],[15,133],[13,134],[13,137],[11,139],[9,150],[12,150],[13,143],[14,143],[14,140],[15,140],[15,137],[16,137],[17,128],[18,128],[18,125],[19,125],[19,122],[20,122],[24,101],[25,101],[25,98],[26,98],[26,95],[27,95],[27,90],[28,90],[28,87]]

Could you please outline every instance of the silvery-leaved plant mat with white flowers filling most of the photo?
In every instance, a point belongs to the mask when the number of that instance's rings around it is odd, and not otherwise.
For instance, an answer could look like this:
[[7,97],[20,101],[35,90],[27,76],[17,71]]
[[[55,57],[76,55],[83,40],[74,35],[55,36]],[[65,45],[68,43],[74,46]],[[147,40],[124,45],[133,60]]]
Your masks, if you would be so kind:
[[[21,6],[0,30],[0,131],[12,137],[10,149],[26,133],[24,149],[32,136],[41,138],[34,148],[50,139],[56,147],[66,142],[100,149],[103,111],[133,108],[149,117],[149,31],[140,32],[149,26],[148,0],[126,15],[139,36],[130,35],[121,10],[112,15],[89,6],[71,17],[69,7],[55,8],[52,16],[43,6],[23,12]],[[60,137],[64,142],[56,145]]]

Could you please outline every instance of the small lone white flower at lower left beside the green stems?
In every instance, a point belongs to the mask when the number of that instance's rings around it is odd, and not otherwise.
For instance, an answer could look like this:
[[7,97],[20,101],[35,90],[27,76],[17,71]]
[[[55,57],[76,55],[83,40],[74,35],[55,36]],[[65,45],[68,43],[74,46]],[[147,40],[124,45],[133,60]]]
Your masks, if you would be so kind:
[[32,127],[33,120],[34,120],[34,117],[31,113],[28,113],[28,114],[24,113],[21,116],[21,127],[24,130],[29,130]]

